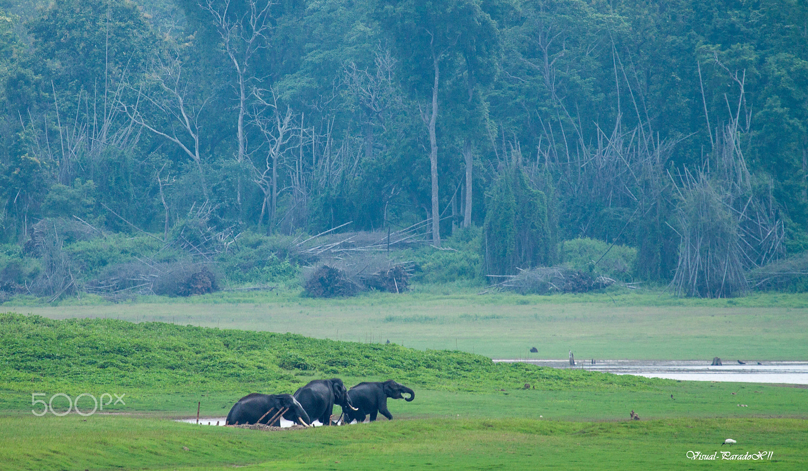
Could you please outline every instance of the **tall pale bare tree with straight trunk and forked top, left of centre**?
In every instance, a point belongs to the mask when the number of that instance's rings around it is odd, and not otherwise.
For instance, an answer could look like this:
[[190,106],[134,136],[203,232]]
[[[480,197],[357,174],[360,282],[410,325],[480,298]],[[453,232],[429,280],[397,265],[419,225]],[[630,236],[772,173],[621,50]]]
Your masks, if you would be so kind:
[[[269,47],[271,34],[271,7],[276,5],[274,0],[245,0],[246,11],[239,15],[231,9],[231,1],[214,2],[205,0],[200,2],[200,8],[208,11],[213,17],[217,31],[224,44],[225,53],[233,65],[236,74],[236,94],[238,99],[238,124],[236,134],[238,140],[238,153],[236,162],[239,171],[245,162],[247,153],[245,118],[248,112],[247,100],[250,96],[250,82],[255,77],[250,76],[250,61],[259,50]],[[242,205],[242,178],[238,175],[238,188],[236,194],[238,207]]]

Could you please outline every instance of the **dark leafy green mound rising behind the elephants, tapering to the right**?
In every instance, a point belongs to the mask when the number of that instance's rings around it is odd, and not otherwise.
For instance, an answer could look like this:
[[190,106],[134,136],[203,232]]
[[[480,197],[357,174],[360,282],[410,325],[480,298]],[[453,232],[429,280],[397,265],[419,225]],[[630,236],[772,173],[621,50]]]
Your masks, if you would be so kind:
[[498,364],[462,351],[419,351],[297,334],[220,330],[112,319],[54,321],[0,314],[0,385],[6,389],[104,385],[138,389],[290,389],[293,373],[395,376],[431,389],[651,389],[666,381],[582,370]]

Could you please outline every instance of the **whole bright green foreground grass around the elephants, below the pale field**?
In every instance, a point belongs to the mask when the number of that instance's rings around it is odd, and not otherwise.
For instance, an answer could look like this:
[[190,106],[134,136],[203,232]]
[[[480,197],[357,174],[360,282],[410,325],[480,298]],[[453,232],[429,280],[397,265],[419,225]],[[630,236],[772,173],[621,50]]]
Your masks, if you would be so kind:
[[[305,431],[170,420],[195,415],[197,402],[203,418],[221,418],[246,393],[288,393],[324,376],[349,385],[393,377],[416,399],[389,401],[393,421]],[[113,414],[35,417],[32,392],[125,394],[125,404],[104,410]],[[680,469],[693,463],[688,451],[772,452],[700,466],[801,469],[806,394],[297,334],[0,314],[0,463],[10,470]],[[629,410],[643,420],[629,421]],[[721,448],[726,438],[738,445]]]

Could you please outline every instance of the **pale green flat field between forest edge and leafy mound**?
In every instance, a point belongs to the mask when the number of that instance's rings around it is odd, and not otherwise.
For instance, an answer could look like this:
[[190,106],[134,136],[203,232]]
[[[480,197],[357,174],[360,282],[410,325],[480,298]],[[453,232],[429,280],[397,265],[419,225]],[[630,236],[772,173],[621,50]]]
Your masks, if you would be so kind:
[[[572,350],[579,358],[612,360],[808,360],[805,294],[692,300],[659,292],[478,296],[469,289],[423,287],[341,300],[308,299],[297,292],[223,292],[116,305],[93,300],[6,305],[54,319],[116,318],[364,343],[390,340],[491,358],[564,359]],[[529,353],[530,347],[538,353]]]

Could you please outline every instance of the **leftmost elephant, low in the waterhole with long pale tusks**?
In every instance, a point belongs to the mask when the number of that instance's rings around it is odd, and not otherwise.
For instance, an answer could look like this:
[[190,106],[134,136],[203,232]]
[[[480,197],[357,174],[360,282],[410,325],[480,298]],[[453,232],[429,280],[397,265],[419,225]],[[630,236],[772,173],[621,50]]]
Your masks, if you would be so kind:
[[293,422],[310,427],[309,414],[306,414],[301,403],[292,394],[260,393],[247,394],[239,399],[227,414],[225,425],[268,424],[270,420],[272,425],[280,425],[278,417],[282,412],[286,412],[284,417],[289,417]]

